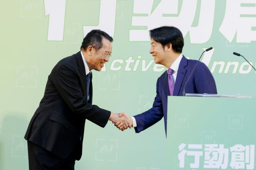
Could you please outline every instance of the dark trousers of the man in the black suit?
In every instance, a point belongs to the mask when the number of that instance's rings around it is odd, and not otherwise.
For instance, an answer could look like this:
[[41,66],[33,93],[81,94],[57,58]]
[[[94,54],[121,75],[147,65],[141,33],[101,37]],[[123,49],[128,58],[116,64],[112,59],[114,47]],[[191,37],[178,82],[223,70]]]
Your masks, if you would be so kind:
[[75,154],[61,159],[50,151],[28,141],[29,170],[74,170]]

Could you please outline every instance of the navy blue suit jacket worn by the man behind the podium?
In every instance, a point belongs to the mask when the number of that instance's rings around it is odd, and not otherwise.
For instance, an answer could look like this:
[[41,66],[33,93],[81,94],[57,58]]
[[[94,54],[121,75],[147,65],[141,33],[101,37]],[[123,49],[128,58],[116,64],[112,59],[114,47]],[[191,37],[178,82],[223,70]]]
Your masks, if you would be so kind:
[[[197,60],[190,60],[182,57],[177,72],[177,77],[174,85],[173,96],[182,96],[184,84],[186,83],[190,73],[192,72]],[[194,72],[187,82],[186,93],[208,93],[217,94],[214,78],[208,67],[198,62]],[[137,127],[135,132],[139,133],[146,128],[154,125],[164,117],[165,134],[167,129],[167,96],[169,96],[168,74],[165,71],[156,83],[156,97],[153,107],[148,111],[134,116]]]

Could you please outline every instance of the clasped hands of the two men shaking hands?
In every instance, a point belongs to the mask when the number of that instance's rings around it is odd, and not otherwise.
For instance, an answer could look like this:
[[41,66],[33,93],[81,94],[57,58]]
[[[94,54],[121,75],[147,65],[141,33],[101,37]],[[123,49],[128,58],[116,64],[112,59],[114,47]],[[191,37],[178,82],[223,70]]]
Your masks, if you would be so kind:
[[110,121],[119,128],[120,130],[124,131],[127,128],[132,128],[132,118],[127,116],[125,113],[112,113],[110,114]]

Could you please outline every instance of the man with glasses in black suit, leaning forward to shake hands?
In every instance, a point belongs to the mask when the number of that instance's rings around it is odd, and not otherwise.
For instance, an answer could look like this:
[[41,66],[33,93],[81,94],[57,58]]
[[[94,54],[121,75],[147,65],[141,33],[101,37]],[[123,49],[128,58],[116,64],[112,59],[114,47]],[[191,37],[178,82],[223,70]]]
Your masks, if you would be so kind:
[[48,76],[44,96],[34,113],[25,139],[29,169],[74,169],[82,156],[85,120],[105,127],[108,120],[131,123],[119,114],[92,105],[92,73],[100,71],[112,52],[112,37],[92,30],[81,51],[60,60]]

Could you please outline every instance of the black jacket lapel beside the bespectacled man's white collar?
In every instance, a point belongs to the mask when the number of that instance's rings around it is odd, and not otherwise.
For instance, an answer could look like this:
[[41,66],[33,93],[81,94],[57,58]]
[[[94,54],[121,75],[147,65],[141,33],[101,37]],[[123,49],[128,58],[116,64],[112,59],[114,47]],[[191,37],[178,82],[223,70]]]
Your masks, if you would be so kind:
[[82,55],[81,55],[80,51],[78,53],[76,53],[76,58],[77,58],[77,64],[78,64],[78,71],[79,71],[79,74],[80,74],[82,82],[83,82],[83,87],[81,87],[82,93],[87,100],[87,97],[86,97],[87,96],[86,95],[86,73],[85,73],[84,62],[83,62]]

